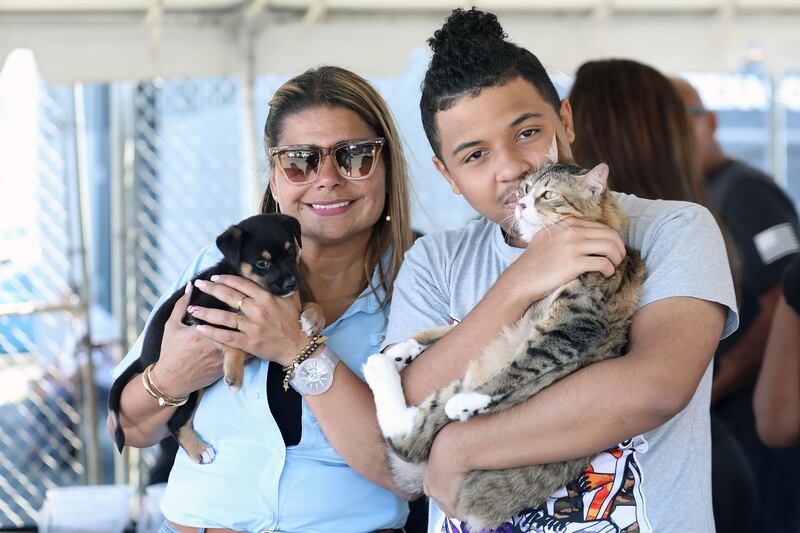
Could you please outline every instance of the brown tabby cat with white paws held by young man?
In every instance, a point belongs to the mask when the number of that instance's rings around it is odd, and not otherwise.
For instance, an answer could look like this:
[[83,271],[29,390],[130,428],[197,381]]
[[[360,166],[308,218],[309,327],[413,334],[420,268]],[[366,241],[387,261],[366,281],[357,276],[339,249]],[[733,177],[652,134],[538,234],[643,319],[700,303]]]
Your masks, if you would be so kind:
[[[515,210],[519,234],[533,235],[566,217],[596,220],[623,232],[627,218],[606,189],[608,166],[590,171],[550,162],[523,179]],[[398,487],[422,494],[422,474],[436,433],[453,420],[508,409],[582,366],[621,355],[636,310],[645,267],[628,250],[616,272],[588,272],[536,302],[473,360],[463,379],[407,406],[399,372],[450,327],[427,330],[370,356],[364,375],[372,389],[381,431]],[[497,471],[473,471],[457,496],[456,515],[470,530],[493,529],[525,509],[543,505],[579,477],[589,461]]]

